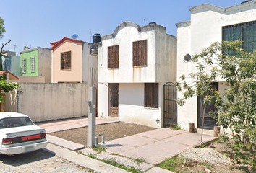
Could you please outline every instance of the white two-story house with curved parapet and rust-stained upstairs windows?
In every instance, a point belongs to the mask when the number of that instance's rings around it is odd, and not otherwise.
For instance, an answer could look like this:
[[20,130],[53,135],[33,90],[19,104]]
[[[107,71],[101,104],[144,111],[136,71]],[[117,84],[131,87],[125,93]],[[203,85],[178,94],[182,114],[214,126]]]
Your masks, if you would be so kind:
[[161,128],[163,85],[176,81],[176,37],[155,22],[123,22],[101,39],[98,116]]

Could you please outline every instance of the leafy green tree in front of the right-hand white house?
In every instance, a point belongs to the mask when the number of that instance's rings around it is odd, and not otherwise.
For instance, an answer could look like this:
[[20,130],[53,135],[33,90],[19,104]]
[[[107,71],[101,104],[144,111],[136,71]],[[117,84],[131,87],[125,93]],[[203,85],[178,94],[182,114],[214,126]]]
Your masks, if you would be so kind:
[[[212,112],[217,115],[218,125],[231,129],[236,159],[242,156],[240,151],[247,148],[255,165],[256,51],[248,53],[242,44],[239,40],[213,43],[193,56],[191,63],[197,63],[198,71],[189,74],[194,81],[190,85],[185,81],[186,76],[180,76],[176,86],[180,91],[186,86],[187,90],[183,92],[184,98],[178,99],[178,105],[184,105],[186,99],[195,95],[204,95],[204,104],[213,104],[218,110]],[[210,84],[218,79],[226,81],[229,89],[222,93],[210,89]]]

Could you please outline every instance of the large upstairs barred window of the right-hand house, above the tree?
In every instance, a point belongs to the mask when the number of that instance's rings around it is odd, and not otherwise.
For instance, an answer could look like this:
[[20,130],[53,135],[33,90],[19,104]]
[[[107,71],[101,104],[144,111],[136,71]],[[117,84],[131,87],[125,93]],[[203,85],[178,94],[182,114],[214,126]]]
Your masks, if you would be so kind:
[[256,21],[222,27],[222,40],[244,42],[242,48],[247,52],[256,50]]

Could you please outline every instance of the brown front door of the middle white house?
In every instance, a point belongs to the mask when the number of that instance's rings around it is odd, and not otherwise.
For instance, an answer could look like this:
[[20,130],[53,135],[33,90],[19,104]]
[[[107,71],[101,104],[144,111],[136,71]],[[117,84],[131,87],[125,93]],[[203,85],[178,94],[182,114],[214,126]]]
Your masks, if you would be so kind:
[[108,84],[111,92],[108,92],[108,111],[109,116],[118,117],[118,105],[119,105],[119,84]]

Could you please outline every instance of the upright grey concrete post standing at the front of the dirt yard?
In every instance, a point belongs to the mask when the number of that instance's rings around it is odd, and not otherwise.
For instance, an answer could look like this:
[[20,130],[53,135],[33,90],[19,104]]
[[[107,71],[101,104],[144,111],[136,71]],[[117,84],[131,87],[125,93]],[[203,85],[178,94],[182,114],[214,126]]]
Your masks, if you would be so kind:
[[88,87],[88,134],[87,146],[88,148],[95,147],[96,136],[96,88]]

